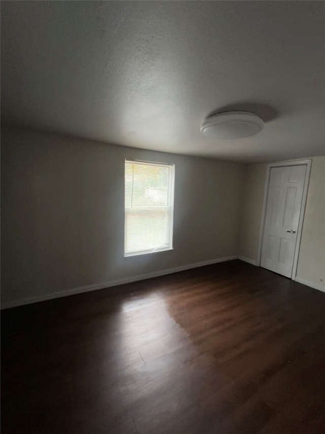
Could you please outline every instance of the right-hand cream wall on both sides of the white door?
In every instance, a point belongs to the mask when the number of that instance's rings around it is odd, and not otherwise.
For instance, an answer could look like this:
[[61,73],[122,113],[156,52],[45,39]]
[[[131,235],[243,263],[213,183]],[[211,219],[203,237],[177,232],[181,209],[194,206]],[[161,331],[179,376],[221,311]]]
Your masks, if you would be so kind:
[[[325,291],[325,157],[312,157],[297,278]],[[239,256],[256,261],[267,164],[245,167]]]

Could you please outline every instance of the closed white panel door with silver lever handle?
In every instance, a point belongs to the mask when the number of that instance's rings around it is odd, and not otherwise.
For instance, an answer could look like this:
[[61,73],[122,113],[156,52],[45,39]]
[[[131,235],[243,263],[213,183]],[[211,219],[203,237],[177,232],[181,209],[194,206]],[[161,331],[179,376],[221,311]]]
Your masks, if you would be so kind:
[[291,277],[306,165],[272,167],[261,267]]

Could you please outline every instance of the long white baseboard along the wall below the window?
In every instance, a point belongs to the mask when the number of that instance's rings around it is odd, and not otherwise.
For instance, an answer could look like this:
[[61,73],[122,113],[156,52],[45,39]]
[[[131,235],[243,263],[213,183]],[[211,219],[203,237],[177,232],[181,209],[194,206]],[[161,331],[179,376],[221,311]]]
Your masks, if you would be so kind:
[[195,264],[183,265],[181,267],[169,268],[167,270],[155,271],[153,273],[138,274],[137,276],[127,277],[125,279],[110,280],[109,282],[95,283],[93,285],[80,286],[71,290],[59,291],[51,294],[45,294],[41,296],[28,297],[11,302],[4,302],[1,304],[1,309],[8,309],[10,307],[23,306],[25,304],[37,303],[39,301],[52,300],[54,298],[67,297],[74,294],[87,293],[90,291],[101,290],[103,288],[109,288],[111,286],[122,285],[124,283],[137,282],[139,280],[150,279],[152,277],[165,276],[166,274],[178,273],[179,271],[190,270],[191,268],[204,267],[206,265],[217,264],[219,262],[232,261],[237,259],[237,255],[226,256],[218,259],[210,259],[209,261],[197,262]]

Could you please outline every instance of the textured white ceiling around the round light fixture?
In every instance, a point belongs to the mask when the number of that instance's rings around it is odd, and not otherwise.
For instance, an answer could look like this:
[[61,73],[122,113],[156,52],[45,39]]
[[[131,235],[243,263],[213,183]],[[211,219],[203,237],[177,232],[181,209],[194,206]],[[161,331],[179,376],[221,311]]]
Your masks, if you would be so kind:
[[[4,123],[243,162],[325,154],[324,2],[2,2]],[[209,142],[207,115],[262,133]]]

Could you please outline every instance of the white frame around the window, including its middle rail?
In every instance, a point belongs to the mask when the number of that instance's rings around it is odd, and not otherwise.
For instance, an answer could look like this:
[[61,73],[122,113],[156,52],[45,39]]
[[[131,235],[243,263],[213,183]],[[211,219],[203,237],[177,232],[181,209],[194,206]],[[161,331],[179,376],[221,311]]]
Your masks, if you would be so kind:
[[[152,208],[148,207],[142,207],[142,211],[154,211],[156,210],[170,210],[170,225],[169,225],[169,245],[166,248],[163,249],[150,249],[150,250],[142,250],[142,251],[136,251],[136,252],[125,252],[125,234],[126,234],[126,215],[127,215],[127,208],[125,207],[125,164],[126,163],[139,163],[139,164],[145,164],[145,165],[152,165],[152,166],[168,166],[170,170],[170,200],[171,205],[170,207],[166,205],[162,206],[156,206]],[[131,257],[131,256],[140,256],[145,254],[153,254],[153,253],[159,253],[159,252],[166,252],[169,250],[174,250],[173,246],[173,235],[174,235],[174,190],[175,190],[175,164],[171,163],[160,163],[160,162],[153,162],[153,161],[144,161],[144,160],[132,160],[125,158],[124,160],[124,257]],[[131,211],[132,208],[129,208],[129,211]],[[139,208],[139,211],[141,209]]]

